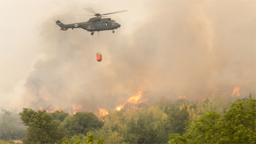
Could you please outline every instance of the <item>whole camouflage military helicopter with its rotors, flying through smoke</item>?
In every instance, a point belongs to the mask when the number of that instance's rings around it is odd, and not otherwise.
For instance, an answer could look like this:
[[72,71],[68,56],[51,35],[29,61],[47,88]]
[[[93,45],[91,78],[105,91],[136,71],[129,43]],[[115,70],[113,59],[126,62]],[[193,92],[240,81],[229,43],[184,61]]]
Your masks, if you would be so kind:
[[[112,33],[114,33],[115,32],[114,29],[119,28],[121,25],[117,23],[116,20],[111,20],[111,18],[102,18],[102,17],[107,17],[103,15],[109,15],[109,14],[115,14],[115,13],[127,11],[127,10],[123,10],[123,11],[111,12],[108,14],[99,14],[99,13],[95,13],[92,8],[83,8],[83,9],[94,14],[90,16],[96,16],[96,17],[90,18],[87,22],[72,23],[72,24],[63,24],[58,19],[56,21],[56,24],[61,27],[60,30],[66,31],[69,28],[72,30],[75,28],[82,28],[84,30],[90,31],[91,35],[93,35],[95,31],[99,32],[103,30],[112,30]],[[80,16],[84,16],[84,15],[80,15]]]

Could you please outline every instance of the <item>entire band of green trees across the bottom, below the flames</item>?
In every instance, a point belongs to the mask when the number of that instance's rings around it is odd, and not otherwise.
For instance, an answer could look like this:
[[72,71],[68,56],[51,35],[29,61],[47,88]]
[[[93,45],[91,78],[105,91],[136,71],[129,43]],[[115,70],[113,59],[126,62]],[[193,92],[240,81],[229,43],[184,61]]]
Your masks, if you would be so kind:
[[[162,98],[161,103],[150,107],[143,103],[140,107],[126,105],[126,109],[101,118],[90,112],[69,116],[62,110],[46,113],[23,109],[20,116],[28,128],[22,141],[62,141],[63,144],[256,143],[255,98],[250,94],[249,99],[230,101],[216,90],[212,98],[202,103],[185,99],[171,103]],[[9,111],[1,114],[1,137],[8,130],[2,131],[6,121],[12,128],[14,120]],[[9,136],[11,132],[10,129]],[[6,141],[1,140],[1,143]]]

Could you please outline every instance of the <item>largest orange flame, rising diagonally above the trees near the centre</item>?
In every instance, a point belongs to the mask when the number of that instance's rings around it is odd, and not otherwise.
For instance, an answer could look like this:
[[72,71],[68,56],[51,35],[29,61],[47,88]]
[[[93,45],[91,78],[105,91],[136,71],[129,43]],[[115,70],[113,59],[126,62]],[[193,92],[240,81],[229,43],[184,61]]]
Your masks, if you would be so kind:
[[[127,104],[127,103],[138,104],[138,103],[143,102],[143,101],[139,101],[142,98],[142,92],[143,92],[143,87],[139,87],[137,94],[133,95],[131,98],[129,98],[125,102],[125,104]],[[145,99],[144,101],[147,101],[147,99]],[[124,108],[125,104],[116,107],[116,110],[120,111],[122,108]]]

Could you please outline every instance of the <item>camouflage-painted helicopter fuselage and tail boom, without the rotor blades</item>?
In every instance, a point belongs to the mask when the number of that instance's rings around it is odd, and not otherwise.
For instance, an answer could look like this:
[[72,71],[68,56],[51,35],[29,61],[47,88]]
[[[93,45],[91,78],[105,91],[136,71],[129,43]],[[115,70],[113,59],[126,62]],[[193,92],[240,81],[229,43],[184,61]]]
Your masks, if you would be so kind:
[[103,31],[103,30],[114,30],[120,27],[121,25],[116,23],[114,20],[111,20],[111,18],[101,18],[101,17],[95,17],[89,19],[87,22],[82,23],[72,23],[72,24],[63,24],[60,22],[60,20],[56,21],[56,24],[61,27],[60,30],[68,30],[69,28],[82,28],[87,31]]

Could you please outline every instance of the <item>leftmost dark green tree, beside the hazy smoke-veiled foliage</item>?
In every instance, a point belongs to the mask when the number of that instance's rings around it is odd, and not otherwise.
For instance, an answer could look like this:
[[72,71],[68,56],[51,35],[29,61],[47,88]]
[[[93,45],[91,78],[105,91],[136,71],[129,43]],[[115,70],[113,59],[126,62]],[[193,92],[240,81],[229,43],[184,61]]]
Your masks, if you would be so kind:
[[52,120],[50,114],[46,111],[37,112],[32,109],[23,108],[19,113],[20,119],[26,126],[26,138],[22,139],[23,143],[60,143],[65,136],[63,129],[59,124]]

